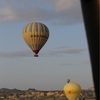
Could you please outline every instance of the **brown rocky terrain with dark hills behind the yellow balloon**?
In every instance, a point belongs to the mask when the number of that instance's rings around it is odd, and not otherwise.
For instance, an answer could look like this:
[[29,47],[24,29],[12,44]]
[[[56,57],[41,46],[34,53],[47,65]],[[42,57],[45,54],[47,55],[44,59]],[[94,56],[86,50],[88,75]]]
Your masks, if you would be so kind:
[[[63,90],[41,91],[36,89],[0,89],[0,100],[68,100]],[[94,88],[83,89],[79,100],[96,100]]]

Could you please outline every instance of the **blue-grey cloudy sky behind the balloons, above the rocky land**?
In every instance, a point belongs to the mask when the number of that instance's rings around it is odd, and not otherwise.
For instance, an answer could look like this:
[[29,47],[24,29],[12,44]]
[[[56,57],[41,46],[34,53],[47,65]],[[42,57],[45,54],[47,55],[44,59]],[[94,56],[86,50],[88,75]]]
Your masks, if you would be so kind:
[[[39,57],[22,38],[30,22],[50,32]],[[80,0],[0,0],[0,88],[62,90],[67,79],[94,86]]]

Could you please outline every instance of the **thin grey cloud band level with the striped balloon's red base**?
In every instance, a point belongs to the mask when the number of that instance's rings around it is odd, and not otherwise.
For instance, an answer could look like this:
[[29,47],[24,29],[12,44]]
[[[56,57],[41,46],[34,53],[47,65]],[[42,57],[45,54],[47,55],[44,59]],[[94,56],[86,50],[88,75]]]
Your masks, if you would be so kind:
[[[39,53],[40,57],[58,57],[64,56],[66,54],[82,54],[85,49],[82,48],[70,48],[70,47],[58,47],[52,50],[44,50]],[[0,52],[0,58],[19,58],[19,57],[34,57],[34,53],[25,50],[25,51],[16,51],[16,52]]]

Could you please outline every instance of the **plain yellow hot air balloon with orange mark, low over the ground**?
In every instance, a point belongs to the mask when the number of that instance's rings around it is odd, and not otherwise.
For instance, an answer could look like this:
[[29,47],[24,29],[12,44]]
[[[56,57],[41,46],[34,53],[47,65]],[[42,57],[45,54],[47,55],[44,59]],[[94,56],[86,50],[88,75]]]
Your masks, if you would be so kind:
[[79,84],[70,82],[64,86],[64,93],[68,100],[77,100],[81,93],[81,87]]

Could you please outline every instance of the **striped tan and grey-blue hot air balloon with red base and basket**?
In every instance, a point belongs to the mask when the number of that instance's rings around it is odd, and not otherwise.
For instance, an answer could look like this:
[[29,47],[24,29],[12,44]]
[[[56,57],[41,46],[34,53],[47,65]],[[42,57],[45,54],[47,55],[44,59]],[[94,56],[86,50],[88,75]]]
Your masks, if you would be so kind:
[[49,29],[39,22],[32,22],[26,25],[22,31],[22,36],[26,44],[38,57],[38,53],[49,38]]

